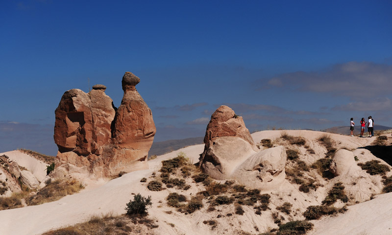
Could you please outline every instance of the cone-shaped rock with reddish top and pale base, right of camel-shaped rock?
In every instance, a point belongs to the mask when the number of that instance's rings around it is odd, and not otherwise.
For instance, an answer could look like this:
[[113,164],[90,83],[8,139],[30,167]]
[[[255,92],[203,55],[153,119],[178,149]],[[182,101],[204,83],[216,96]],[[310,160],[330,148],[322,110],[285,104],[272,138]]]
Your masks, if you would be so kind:
[[211,116],[204,144],[199,166],[215,179],[230,177],[238,165],[258,151],[243,118],[224,105]]

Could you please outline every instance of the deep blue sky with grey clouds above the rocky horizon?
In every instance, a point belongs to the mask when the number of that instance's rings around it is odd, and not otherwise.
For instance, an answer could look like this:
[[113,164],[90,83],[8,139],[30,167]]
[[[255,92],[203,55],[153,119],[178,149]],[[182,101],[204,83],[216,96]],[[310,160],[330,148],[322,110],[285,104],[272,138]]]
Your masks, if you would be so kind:
[[62,94],[120,105],[125,71],[155,141],[203,136],[226,104],[250,131],[392,126],[391,1],[0,2],[0,152],[55,155]]

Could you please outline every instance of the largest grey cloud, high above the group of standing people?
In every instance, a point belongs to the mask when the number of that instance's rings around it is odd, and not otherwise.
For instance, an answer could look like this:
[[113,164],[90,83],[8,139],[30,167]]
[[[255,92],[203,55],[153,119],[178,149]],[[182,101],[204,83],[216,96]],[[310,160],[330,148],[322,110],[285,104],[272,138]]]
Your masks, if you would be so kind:
[[331,93],[353,99],[391,94],[392,65],[370,62],[337,64],[324,71],[296,71],[273,77],[271,87]]

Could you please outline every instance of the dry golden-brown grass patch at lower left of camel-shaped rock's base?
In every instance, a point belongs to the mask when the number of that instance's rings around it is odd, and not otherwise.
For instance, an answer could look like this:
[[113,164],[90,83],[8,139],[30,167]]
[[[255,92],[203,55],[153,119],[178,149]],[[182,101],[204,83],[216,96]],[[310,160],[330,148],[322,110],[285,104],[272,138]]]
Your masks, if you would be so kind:
[[27,198],[26,204],[32,206],[57,201],[60,198],[76,193],[83,188],[84,186],[75,179],[55,180],[44,188],[41,188],[37,194]]

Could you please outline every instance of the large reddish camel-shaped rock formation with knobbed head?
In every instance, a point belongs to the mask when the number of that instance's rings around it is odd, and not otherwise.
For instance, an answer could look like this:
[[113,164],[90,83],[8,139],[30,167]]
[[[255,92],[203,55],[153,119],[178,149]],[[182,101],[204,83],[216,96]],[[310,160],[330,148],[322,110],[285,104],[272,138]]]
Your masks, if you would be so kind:
[[78,89],[64,93],[55,111],[56,168],[63,165],[65,172],[72,169],[95,177],[148,168],[156,129],[151,110],[135,88],[139,81],[125,73],[119,109],[104,85],[93,86],[89,94]]

